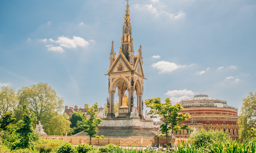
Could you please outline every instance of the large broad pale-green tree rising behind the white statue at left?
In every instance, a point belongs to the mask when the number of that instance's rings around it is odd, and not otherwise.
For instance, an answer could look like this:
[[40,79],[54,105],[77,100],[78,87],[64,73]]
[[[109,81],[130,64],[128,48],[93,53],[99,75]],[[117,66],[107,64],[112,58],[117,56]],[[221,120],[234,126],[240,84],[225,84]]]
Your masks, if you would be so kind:
[[[41,121],[46,134],[59,134],[59,132],[56,132],[57,130],[53,130],[51,127],[69,128],[66,127],[67,122],[63,120],[62,115],[64,100],[59,98],[56,91],[47,83],[39,82],[29,87],[22,87],[18,91],[18,99],[20,106],[27,104],[29,111],[33,112],[37,117],[37,121]],[[19,115],[21,114],[19,110],[16,112]],[[56,120],[56,115],[60,117],[59,120]],[[34,125],[37,121],[34,121]]]

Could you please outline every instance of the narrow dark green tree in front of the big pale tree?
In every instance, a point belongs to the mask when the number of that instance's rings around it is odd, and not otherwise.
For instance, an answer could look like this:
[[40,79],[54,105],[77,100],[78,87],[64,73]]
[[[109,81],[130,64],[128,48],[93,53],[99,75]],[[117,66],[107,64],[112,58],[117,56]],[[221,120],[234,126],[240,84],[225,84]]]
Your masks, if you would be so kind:
[[32,148],[35,140],[35,133],[32,125],[36,117],[34,113],[29,112],[27,105],[23,105],[22,109],[25,111],[25,113],[23,114],[23,119],[17,123],[20,128],[18,128],[16,132],[19,133],[20,141],[18,144],[16,144],[16,147]]

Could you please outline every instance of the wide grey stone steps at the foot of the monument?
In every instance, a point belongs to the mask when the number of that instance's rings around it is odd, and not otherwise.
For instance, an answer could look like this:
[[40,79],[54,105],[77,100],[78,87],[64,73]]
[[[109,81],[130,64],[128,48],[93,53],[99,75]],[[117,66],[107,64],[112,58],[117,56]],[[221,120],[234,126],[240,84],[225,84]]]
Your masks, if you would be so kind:
[[[97,130],[98,136],[104,137],[154,137],[157,131],[152,130]],[[86,136],[84,131],[73,136]]]

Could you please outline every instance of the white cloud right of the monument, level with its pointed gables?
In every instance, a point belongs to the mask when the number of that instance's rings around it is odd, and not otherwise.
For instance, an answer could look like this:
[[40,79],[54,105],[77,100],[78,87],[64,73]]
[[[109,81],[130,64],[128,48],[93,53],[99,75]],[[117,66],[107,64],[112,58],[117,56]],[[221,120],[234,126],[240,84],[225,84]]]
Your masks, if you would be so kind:
[[176,69],[179,68],[184,68],[186,67],[186,65],[177,65],[175,63],[171,63],[171,62],[165,62],[165,61],[159,61],[157,63],[153,63],[151,65],[153,68],[157,68],[160,70],[159,73],[170,73]]

